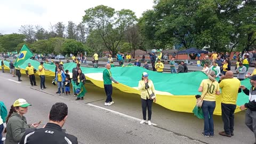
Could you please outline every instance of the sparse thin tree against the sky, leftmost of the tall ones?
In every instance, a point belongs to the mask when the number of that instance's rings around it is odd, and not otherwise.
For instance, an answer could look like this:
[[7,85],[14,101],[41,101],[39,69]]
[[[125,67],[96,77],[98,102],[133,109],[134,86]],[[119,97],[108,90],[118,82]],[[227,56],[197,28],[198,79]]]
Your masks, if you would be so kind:
[[26,42],[35,42],[35,29],[33,25],[23,25],[20,27],[19,32],[26,36]]

